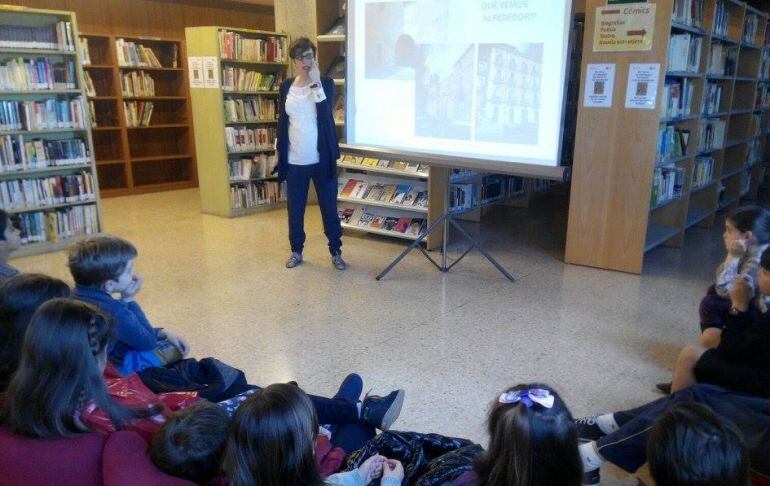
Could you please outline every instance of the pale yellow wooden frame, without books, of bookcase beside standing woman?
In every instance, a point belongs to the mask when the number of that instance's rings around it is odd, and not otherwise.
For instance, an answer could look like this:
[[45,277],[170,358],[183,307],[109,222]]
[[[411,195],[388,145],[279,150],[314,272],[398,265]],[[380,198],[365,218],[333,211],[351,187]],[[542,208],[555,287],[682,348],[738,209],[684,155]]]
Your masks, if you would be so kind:
[[[280,61],[242,61],[224,56],[220,49],[220,33],[232,32],[243,38],[251,40],[279,39],[284,44],[283,57]],[[192,111],[195,117],[195,136],[197,140],[196,152],[198,159],[198,177],[200,180],[201,208],[204,213],[225,217],[236,217],[255,212],[277,209],[285,206],[285,190],[283,184],[269,177],[270,162],[260,163],[264,167],[261,177],[245,177],[245,180],[231,178],[231,165],[237,164],[240,159],[248,159],[261,154],[265,158],[275,156],[274,136],[270,137],[269,145],[237,148],[228,147],[226,131],[228,129],[266,129],[277,132],[277,101],[278,86],[280,81],[287,76],[289,40],[285,34],[248,29],[231,29],[229,27],[189,27],[186,29],[187,46],[190,56],[211,56],[217,59],[217,70],[220,82],[225,80],[225,70],[228,68],[256,71],[261,74],[275,76],[272,86],[264,90],[239,90],[236,87],[224,89],[220,85],[217,89],[191,88]],[[259,100],[267,104],[274,104],[275,116],[260,117],[251,121],[228,121],[226,117],[226,102],[247,102]],[[233,193],[260,191],[269,194],[269,197],[261,200],[249,201],[250,204],[242,204],[243,197],[236,204]],[[240,206],[240,207],[239,207]],[[242,207],[248,206],[248,207]]]

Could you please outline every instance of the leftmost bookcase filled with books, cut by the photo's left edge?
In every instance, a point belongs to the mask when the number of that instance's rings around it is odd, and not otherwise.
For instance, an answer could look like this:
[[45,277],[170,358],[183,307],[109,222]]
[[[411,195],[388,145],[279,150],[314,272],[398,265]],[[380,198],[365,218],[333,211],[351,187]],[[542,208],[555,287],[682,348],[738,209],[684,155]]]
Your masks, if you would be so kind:
[[0,207],[22,237],[11,258],[102,228],[77,33],[72,12],[0,5]]

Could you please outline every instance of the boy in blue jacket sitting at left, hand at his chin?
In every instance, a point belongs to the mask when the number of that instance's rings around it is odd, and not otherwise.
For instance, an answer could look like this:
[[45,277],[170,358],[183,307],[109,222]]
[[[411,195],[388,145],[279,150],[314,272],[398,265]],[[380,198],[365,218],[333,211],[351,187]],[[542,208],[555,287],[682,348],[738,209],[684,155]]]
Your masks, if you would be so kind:
[[180,336],[153,328],[136,302],[144,281],[134,274],[136,256],[134,245],[112,236],[88,238],[69,253],[69,269],[76,284],[73,297],[96,305],[113,319],[114,339],[108,354],[123,375],[165,366],[190,351]]

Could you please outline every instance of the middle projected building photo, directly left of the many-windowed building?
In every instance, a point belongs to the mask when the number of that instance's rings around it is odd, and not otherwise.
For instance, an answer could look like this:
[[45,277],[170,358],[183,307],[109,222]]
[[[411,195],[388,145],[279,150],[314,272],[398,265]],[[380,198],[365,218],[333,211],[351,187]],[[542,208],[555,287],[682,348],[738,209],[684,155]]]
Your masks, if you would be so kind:
[[470,140],[476,47],[424,45],[414,93],[415,135]]

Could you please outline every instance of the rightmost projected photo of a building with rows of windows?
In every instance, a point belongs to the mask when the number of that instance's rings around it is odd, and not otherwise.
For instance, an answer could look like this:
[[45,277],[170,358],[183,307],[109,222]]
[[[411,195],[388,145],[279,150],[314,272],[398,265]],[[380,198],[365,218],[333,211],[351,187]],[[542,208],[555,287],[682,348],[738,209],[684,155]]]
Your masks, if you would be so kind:
[[543,44],[482,44],[476,75],[476,140],[537,145]]

